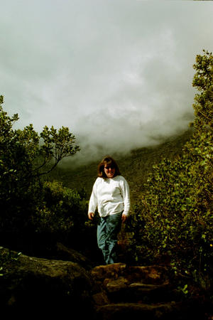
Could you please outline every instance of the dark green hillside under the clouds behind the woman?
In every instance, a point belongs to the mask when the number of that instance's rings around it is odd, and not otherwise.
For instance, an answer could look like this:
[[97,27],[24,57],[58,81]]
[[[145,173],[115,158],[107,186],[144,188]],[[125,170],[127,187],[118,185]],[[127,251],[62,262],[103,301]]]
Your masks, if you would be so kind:
[[[148,173],[152,170],[153,164],[160,159],[173,159],[182,152],[182,146],[190,139],[192,130],[187,130],[183,134],[171,137],[158,146],[146,147],[131,151],[126,156],[114,156],[122,176],[129,182],[131,198],[137,196],[143,191],[143,183],[146,182]],[[101,160],[101,159],[100,159]],[[77,189],[77,191],[86,191],[88,199],[92,191],[92,185],[97,177],[97,165],[99,161],[93,161],[85,166],[75,169],[56,168],[50,175],[50,179],[62,181],[64,186]]]

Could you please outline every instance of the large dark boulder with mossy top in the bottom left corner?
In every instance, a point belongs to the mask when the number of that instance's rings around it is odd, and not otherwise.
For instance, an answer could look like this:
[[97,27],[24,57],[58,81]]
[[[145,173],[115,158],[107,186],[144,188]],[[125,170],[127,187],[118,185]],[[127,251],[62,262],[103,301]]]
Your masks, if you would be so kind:
[[[33,310],[33,314],[77,312],[92,316],[92,282],[84,268],[75,262],[48,260],[1,248],[1,257],[10,257],[10,265],[0,279],[1,310]],[[83,307],[82,307],[83,306]],[[73,317],[72,317],[73,319]],[[74,318],[75,319],[75,318]]]

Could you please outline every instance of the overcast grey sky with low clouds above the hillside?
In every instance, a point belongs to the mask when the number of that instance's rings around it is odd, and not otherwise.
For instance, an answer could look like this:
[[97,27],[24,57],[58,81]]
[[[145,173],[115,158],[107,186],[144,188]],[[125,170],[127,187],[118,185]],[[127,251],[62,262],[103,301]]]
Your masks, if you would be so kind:
[[19,128],[69,127],[89,157],[187,129],[192,65],[213,50],[212,1],[0,0],[0,8],[0,94]]

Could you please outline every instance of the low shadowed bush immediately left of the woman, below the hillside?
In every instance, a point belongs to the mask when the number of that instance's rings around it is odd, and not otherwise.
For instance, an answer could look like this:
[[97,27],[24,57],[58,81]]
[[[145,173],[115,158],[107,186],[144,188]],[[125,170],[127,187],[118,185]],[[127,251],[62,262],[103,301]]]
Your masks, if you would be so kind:
[[42,195],[41,206],[33,217],[36,232],[64,243],[81,242],[87,220],[87,203],[79,193],[54,181],[44,183]]

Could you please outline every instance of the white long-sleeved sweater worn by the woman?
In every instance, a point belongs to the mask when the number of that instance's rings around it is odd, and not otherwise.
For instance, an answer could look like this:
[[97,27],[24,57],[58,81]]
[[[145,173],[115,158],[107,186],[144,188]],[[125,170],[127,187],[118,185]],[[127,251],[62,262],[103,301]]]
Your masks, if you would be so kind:
[[129,185],[123,176],[96,179],[89,200],[88,212],[94,213],[96,208],[101,217],[122,211],[125,215],[129,214]]

